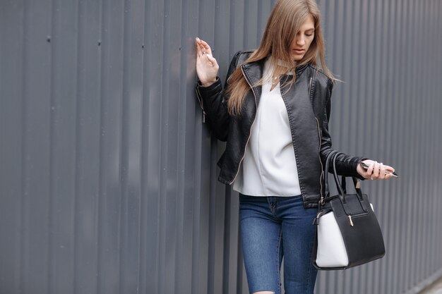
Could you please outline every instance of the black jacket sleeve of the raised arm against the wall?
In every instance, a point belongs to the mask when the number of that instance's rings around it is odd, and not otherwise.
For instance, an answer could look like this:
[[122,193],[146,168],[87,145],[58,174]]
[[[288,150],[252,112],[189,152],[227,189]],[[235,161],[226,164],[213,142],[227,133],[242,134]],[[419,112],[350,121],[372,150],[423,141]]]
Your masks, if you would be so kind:
[[206,118],[213,134],[221,141],[227,141],[227,134],[229,133],[230,115],[227,111],[228,97],[225,95],[227,80],[237,68],[239,54],[241,54],[241,51],[238,51],[230,62],[224,88],[219,77],[208,87],[203,87],[200,80],[196,82],[196,95],[201,104],[203,116],[207,115]]

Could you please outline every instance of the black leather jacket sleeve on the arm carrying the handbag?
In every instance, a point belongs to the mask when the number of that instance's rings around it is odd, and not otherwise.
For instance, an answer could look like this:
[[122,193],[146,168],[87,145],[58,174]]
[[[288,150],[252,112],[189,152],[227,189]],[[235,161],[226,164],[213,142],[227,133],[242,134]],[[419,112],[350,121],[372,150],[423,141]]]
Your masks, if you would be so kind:
[[[327,106],[324,109],[322,137],[321,137],[321,161],[325,164],[325,160],[330,152],[333,151],[330,133],[328,132],[328,121],[330,120],[331,112],[331,94],[333,90],[333,82],[328,80],[328,99]],[[350,157],[347,154],[340,152],[336,157],[336,171],[340,176],[352,176],[364,180],[364,177],[357,172],[357,165],[359,161],[366,159],[365,157]],[[333,166],[330,165],[328,170],[333,173]]]

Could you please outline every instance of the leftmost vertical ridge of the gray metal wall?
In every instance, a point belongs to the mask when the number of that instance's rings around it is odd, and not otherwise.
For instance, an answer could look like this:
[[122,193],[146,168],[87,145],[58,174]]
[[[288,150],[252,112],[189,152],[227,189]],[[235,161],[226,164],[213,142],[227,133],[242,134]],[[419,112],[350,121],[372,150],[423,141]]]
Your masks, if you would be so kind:
[[0,4],[0,68],[4,69],[0,72],[0,209],[4,209],[0,212],[0,290],[4,293],[20,293],[23,288],[25,16],[24,8],[13,4]]

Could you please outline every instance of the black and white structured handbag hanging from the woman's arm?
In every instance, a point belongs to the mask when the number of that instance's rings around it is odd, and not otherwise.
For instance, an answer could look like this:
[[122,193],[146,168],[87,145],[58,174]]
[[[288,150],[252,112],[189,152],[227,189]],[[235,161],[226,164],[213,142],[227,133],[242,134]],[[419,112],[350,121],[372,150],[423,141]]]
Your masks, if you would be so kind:
[[[336,173],[338,152],[331,152],[325,163],[325,197],[319,204],[313,247],[313,265],[317,269],[348,269],[385,255],[383,235],[366,194],[352,178],[355,194],[348,194],[345,177],[342,185]],[[330,162],[331,161],[331,162]],[[328,167],[333,164],[338,195],[330,196]]]

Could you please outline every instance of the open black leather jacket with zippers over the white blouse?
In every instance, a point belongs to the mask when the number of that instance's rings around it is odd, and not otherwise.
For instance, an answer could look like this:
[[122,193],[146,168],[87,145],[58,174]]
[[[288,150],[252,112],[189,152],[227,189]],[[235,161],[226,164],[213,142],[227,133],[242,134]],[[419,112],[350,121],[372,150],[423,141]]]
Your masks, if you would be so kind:
[[[243,64],[252,52],[239,51],[234,55],[227,78],[237,66],[241,66],[249,85],[254,85],[261,79],[265,60]],[[286,78],[289,76],[283,76],[282,80]],[[306,64],[296,68],[294,85],[288,91],[285,87],[281,89],[292,131],[304,207],[317,207],[323,195],[323,163],[328,153],[333,150],[328,133],[332,88],[332,80],[315,66]],[[196,92],[203,109],[203,119],[207,119],[219,140],[227,141],[225,152],[218,161],[221,169],[218,180],[231,185],[244,159],[251,126],[261,97],[261,86],[252,87],[246,94],[239,117],[230,116],[227,112],[228,97],[224,95],[220,78],[208,87],[203,87],[198,81]],[[340,154],[336,161],[336,169],[340,175],[362,178],[357,173],[357,164],[362,159],[362,157]]]

